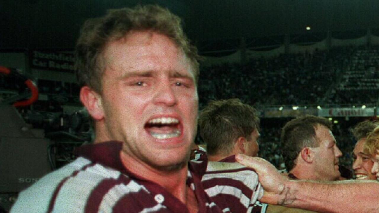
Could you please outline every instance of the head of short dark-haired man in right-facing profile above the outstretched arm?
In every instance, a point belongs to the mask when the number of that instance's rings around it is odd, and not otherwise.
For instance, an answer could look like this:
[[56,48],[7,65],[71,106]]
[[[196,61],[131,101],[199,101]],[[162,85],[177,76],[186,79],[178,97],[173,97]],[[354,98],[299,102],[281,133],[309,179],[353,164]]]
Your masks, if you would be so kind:
[[342,152],[326,118],[305,115],[289,121],[282,129],[283,158],[293,179],[337,180]]

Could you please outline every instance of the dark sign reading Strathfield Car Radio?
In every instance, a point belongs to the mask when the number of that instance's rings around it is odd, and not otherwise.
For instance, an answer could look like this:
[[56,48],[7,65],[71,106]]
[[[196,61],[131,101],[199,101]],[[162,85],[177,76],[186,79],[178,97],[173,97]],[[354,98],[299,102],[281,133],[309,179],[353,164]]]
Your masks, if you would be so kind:
[[30,52],[32,68],[74,72],[74,61],[74,53],[68,51],[33,50]]

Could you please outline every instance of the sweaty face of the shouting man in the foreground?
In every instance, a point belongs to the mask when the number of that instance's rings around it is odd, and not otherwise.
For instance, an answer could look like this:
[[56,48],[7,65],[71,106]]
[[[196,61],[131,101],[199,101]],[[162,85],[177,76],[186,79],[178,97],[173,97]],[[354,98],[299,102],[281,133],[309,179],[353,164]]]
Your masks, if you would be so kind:
[[100,103],[124,154],[158,169],[183,165],[196,135],[198,96],[189,59],[167,36],[135,31],[110,42]]

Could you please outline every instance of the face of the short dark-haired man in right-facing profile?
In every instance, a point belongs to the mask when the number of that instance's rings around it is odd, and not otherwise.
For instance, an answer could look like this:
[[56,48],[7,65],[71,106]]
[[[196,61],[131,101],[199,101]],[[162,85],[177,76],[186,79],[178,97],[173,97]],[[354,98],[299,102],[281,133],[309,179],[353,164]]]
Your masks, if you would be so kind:
[[318,125],[316,128],[316,138],[319,147],[315,150],[315,176],[318,180],[337,180],[340,176],[338,171],[338,158],[342,152],[338,149],[334,135],[327,127]]

